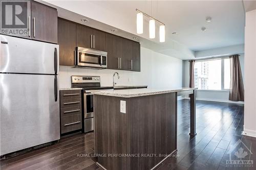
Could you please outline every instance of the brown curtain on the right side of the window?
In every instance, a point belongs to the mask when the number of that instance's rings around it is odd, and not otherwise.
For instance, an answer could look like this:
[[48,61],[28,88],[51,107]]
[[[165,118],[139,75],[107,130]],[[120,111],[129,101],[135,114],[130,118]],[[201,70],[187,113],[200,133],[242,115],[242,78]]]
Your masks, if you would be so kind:
[[230,56],[230,101],[244,101],[244,83],[239,62],[239,55]]

